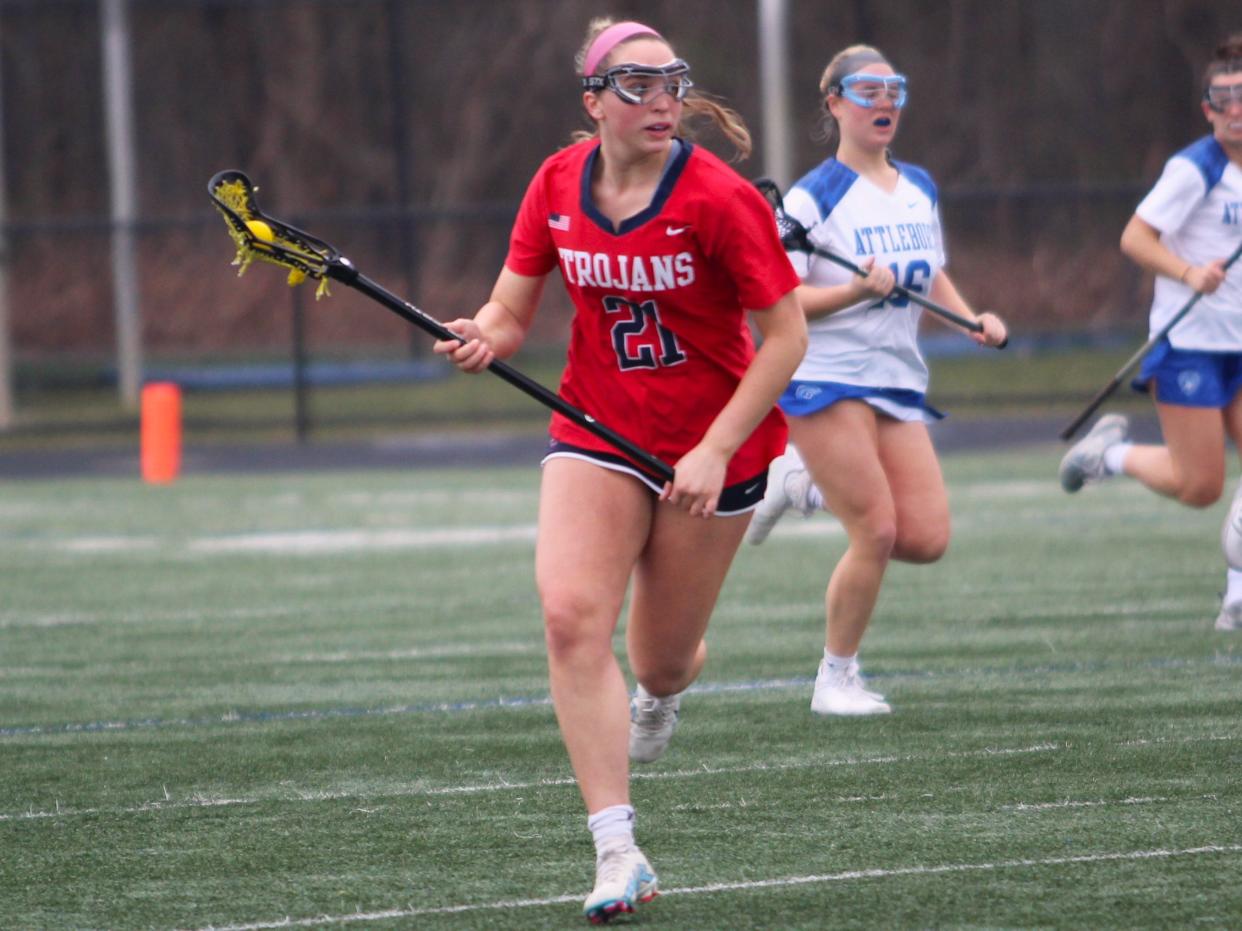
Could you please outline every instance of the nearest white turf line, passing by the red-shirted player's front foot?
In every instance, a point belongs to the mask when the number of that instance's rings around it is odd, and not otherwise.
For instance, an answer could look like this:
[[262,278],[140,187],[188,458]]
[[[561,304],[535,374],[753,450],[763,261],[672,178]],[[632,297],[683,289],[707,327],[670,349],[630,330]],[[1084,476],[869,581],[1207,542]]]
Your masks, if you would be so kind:
[[[1042,866],[1071,866],[1093,863],[1126,863],[1136,860],[1165,860],[1172,857],[1205,857],[1212,854],[1242,853],[1242,844],[1208,844],[1205,847],[1186,847],[1177,850],[1117,850],[1113,853],[1081,854],[1078,857],[1042,857],[1018,860],[997,860],[995,863],[941,863],[924,866],[897,866],[892,869],[847,870],[845,873],[821,873],[807,876],[779,876],[775,879],[755,879],[739,883],[712,883],[702,886],[683,886],[681,889],[662,889],[661,895],[718,895],[723,893],[748,893],[755,889],[787,889],[792,886],[822,885],[826,883],[850,883],[868,879],[891,879],[894,876],[934,876],[954,873],[994,873],[1012,869],[1038,869]],[[461,915],[472,911],[501,911],[510,909],[539,909],[550,905],[581,901],[581,895],[556,895],[548,899],[507,899],[494,902],[474,902],[469,905],[441,905],[428,907],[388,909],[385,911],[356,911],[351,915],[317,915],[310,919],[283,917],[277,921],[255,921],[245,925],[207,925],[201,931],[263,931],[278,927],[317,927],[323,925],[347,925],[358,921],[390,921],[392,919],[414,919],[432,915]]]

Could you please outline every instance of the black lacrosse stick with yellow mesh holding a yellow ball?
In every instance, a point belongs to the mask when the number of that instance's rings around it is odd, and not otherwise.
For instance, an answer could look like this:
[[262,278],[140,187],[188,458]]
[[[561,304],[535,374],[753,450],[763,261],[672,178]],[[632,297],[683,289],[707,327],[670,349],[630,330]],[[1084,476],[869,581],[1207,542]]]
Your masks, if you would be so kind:
[[[288,283],[291,286],[301,284],[307,278],[318,281],[317,298],[328,293],[328,279],[330,278],[360,290],[436,339],[465,343],[461,336],[440,320],[410,302],[401,300],[361,274],[353,262],[323,240],[317,240],[314,236],[265,214],[255,200],[256,190],[255,185],[241,171],[220,171],[207,182],[211,201],[224,215],[229,223],[229,235],[237,246],[237,256],[233,258],[233,264],[238,266],[237,274],[245,273],[255,259],[268,262],[289,269]],[[533,381],[499,359],[492,361],[488,371],[621,451],[635,466],[652,478],[662,483],[673,480],[671,466],[631,443],[620,433],[611,431],[591,415],[578,410],[556,392]]]

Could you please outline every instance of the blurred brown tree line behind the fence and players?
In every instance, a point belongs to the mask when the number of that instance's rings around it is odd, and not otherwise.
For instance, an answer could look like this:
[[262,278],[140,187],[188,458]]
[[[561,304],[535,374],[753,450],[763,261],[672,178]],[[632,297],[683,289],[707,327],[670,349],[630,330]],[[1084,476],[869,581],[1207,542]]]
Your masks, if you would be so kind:
[[[161,358],[289,339],[283,274],[241,282],[206,181],[240,168],[270,212],[430,313],[471,313],[540,160],[585,125],[573,58],[592,16],[661,29],[758,139],[754,0],[130,0],[142,335]],[[1199,81],[1236,0],[790,0],[796,174],[832,53],[910,78],[895,154],[941,189],[950,268],[1016,333],[1145,325],[1118,236],[1164,160],[1207,129]],[[97,0],[0,0],[11,345],[109,360],[114,340]],[[725,154],[710,135],[702,142]],[[766,174],[761,150],[738,163]],[[565,336],[559,289],[533,340]],[[322,353],[426,338],[338,287],[307,299]]]

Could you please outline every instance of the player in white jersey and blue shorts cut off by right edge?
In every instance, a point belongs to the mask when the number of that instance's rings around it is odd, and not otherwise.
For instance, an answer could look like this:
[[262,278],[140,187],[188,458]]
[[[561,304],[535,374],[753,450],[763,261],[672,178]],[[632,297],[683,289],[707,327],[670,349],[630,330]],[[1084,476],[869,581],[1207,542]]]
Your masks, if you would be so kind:
[[[1203,73],[1203,117],[1212,132],[1167,163],[1122,233],[1122,251],[1156,276],[1150,328],[1203,297],[1156,343],[1135,379],[1155,402],[1164,446],[1131,443],[1126,418],[1105,415],[1061,461],[1061,484],[1126,474],[1191,508],[1225,487],[1226,437],[1242,449],[1242,34],[1216,50]],[[1242,629],[1242,488],[1222,531],[1227,572],[1216,629]],[[1231,555],[1232,554],[1232,555]]]

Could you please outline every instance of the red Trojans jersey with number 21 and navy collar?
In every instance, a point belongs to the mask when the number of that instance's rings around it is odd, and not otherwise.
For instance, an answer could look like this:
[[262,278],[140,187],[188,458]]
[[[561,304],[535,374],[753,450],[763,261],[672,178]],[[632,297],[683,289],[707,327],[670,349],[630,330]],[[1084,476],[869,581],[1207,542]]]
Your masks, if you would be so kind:
[[[550,156],[530,181],[505,266],[560,268],[576,309],[560,395],[669,464],[689,452],[754,359],[744,308],[799,286],[771,207],[733,169],[682,142],[651,205],[615,228],[591,200],[599,140]],[[606,453],[554,413],[554,439]],[[729,462],[725,485],[760,474],[785,448],[774,407]]]

